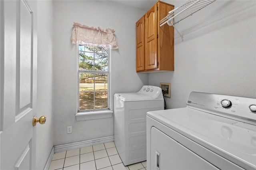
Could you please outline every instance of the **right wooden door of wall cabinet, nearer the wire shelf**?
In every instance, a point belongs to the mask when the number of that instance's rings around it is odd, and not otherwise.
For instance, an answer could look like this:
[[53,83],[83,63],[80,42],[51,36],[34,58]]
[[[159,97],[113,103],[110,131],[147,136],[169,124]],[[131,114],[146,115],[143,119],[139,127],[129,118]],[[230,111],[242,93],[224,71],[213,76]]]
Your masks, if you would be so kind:
[[145,69],[156,69],[157,59],[157,5],[145,14]]

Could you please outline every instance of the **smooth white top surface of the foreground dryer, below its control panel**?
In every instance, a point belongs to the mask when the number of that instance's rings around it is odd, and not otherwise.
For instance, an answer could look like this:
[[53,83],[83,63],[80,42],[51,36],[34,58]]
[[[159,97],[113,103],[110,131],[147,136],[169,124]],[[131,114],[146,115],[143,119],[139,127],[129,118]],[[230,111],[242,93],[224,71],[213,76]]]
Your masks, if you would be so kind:
[[[246,169],[256,169],[256,126],[189,107],[150,111],[148,117]],[[161,125],[160,124],[160,125]]]

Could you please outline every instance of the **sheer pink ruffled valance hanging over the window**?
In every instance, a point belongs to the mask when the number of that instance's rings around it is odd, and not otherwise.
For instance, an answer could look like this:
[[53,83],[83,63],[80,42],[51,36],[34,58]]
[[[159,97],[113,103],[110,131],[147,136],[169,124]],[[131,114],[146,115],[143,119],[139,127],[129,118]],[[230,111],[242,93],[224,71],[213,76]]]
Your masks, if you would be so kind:
[[102,30],[100,27],[88,27],[74,22],[71,41],[73,44],[118,49],[114,32],[110,28]]

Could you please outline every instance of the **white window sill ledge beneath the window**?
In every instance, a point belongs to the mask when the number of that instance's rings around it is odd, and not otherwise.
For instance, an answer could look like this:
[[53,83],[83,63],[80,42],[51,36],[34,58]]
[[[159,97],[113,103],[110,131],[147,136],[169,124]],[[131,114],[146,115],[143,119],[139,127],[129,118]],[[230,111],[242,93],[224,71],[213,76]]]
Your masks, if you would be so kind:
[[106,119],[113,116],[112,111],[94,111],[76,113],[76,121],[90,121],[95,119]]

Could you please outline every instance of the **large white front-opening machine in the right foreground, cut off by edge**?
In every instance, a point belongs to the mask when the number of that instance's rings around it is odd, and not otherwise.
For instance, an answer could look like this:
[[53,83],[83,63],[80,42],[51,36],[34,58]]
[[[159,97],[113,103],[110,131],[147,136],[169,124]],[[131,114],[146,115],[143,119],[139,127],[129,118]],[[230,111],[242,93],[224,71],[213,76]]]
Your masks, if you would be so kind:
[[146,119],[147,170],[256,170],[256,99],[192,92]]

